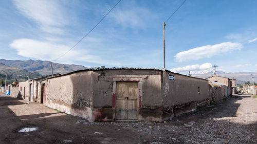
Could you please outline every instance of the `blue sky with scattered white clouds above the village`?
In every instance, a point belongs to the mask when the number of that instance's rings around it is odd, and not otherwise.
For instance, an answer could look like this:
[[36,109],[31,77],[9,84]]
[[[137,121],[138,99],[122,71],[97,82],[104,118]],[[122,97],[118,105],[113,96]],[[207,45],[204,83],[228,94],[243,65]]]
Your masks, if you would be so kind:
[[[0,58],[163,68],[163,22],[183,0],[122,0],[66,53],[117,2],[3,0]],[[256,6],[257,1],[186,1],[166,22],[166,69],[204,73],[216,64],[218,71],[256,72]]]

